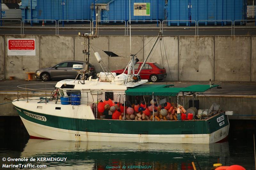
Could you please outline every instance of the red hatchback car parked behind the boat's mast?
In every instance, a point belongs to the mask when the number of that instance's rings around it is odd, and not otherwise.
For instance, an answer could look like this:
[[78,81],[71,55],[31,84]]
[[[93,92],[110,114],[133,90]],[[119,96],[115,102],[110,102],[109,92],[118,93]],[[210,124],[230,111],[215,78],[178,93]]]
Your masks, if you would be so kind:
[[[142,63],[143,62],[138,62],[137,64],[135,64],[134,66],[135,74],[137,74],[138,71],[140,70]],[[119,75],[124,72],[124,69],[113,70],[111,72],[115,72],[116,75]],[[127,74],[127,70],[124,73]],[[151,82],[157,82],[158,80],[162,80],[163,78],[166,78],[166,70],[157,63],[153,63],[153,62],[145,63],[144,67],[140,72],[140,78],[148,79]]]

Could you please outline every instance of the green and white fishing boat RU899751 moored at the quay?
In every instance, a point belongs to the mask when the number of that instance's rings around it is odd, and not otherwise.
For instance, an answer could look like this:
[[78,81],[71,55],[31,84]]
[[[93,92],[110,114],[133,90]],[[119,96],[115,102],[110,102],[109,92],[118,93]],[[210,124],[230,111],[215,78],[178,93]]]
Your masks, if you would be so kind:
[[[97,38],[97,34],[79,33],[79,36],[88,45],[83,50],[88,65],[90,40]],[[206,114],[203,114],[203,110],[202,113],[197,113],[194,102],[192,108],[184,108],[186,95],[192,95],[194,99],[196,93],[203,93],[218,85],[179,88],[173,85],[146,85],[148,80],[140,78],[140,71],[156,42],[163,39],[160,31],[138,73],[134,71],[138,59],[132,54],[130,42],[130,61],[120,75],[111,73],[99,53],[95,52],[94,55],[103,70],[96,79],[89,77],[82,81],[62,80],[55,85],[52,92],[46,89],[37,90],[37,97],[33,97],[35,93],[28,94],[29,90],[35,92],[35,89],[28,89],[27,85],[18,86],[26,90],[27,97],[18,98],[12,103],[30,137],[72,141],[191,144],[211,144],[226,138],[229,122],[225,111],[212,105],[208,111],[204,110]],[[109,57],[118,56],[110,51],[105,53]],[[78,75],[87,73],[82,65],[74,65],[73,68],[78,71]]]

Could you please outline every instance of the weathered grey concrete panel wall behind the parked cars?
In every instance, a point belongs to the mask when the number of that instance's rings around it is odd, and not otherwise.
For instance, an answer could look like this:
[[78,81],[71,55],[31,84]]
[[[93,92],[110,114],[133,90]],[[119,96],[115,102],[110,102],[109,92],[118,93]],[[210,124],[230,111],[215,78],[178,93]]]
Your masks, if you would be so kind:
[[[36,55],[8,55],[8,38],[36,39]],[[83,41],[76,35],[0,35],[0,79],[26,79],[26,72],[66,60],[83,61]],[[132,36],[132,53],[141,49],[137,57],[143,61],[154,41],[154,36]],[[100,36],[91,43],[89,62],[96,72],[102,70],[94,52],[100,53],[109,70],[124,68],[130,59],[129,36]],[[166,81],[256,81],[255,47],[256,36],[164,36],[148,61],[164,65]],[[122,57],[108,57],[103,50]]]

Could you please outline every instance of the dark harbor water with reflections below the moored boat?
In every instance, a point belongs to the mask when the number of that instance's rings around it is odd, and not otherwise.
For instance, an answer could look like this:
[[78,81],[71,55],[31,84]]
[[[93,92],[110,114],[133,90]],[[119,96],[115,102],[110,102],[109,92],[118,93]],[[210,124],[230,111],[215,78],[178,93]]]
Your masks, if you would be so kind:
[[[17,117],[15,121],[11,118],[1,121],[0,143],[0,169],[193,170],[192,161],[195,162],[197,169],[198,164],[201,169],[211,169],[217,162],[226,166],[238,164],[246,169],[255,169],[253,137],[235,138],[234,135],[229,136],[225,142],[215,144],[30,139]],[[6,166],[19,164],[27,167]],[[33,168],[32,165],[46,167]]]

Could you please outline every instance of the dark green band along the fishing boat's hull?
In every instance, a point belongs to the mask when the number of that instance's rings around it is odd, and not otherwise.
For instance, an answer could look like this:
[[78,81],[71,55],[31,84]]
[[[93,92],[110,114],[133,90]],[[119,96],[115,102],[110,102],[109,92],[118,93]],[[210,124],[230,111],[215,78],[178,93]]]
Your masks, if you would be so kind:
[[[18,108],[18,107],[17,107]],[[28,110],[18,108],[19,115],[30,121],[41,125],[75,130],[84,132],[102,132],[102,133],[118,133],[118,134],[148,134],[148,135],[181,135],[181,134],[210,134],[228,125],[228,119],[225,113],[212,117],[207,121],[123,121],[123,120],[88,120],[67,118],[53,115],[40,114]],[[24,114],[25,112],[34,115],[44,116],[46,121]],[[224,116],[223,125],[217,122],[217,118]]]

